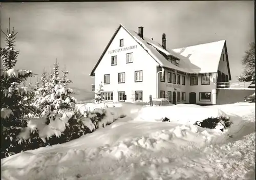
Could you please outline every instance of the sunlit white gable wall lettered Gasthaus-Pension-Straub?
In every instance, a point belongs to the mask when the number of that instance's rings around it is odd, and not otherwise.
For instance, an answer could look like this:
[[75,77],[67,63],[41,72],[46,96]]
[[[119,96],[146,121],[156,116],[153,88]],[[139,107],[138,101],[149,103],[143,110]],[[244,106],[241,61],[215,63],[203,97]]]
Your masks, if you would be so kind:
[[[120,39],[124,39],[124,46],[120,47]],[[120,48],[137,46],[135,49],[119,51]],[[116,53],[109,53],[117,50]],[[126,53],[133,52],[133,62],[126,63]],[[111,57],[117,56],[117,65],[111,65]],[[127,100],[135,101],[135,91],[142,91],[142,101],[148,102],[149,96],[156,97],[156,65],[157,62],[138,44],[134,38],[122,27],[113,39],[95,70],[95,92],[104,80],[104,74],[110,74],[110,84],[103,84],[105,92],[113,92],[113,101],[118,102],[118,92],[125,91]],[[143,81],[135,82],[135,71],[143,71]],[[125,73],[125,83],[118,83],[118,73]]]

